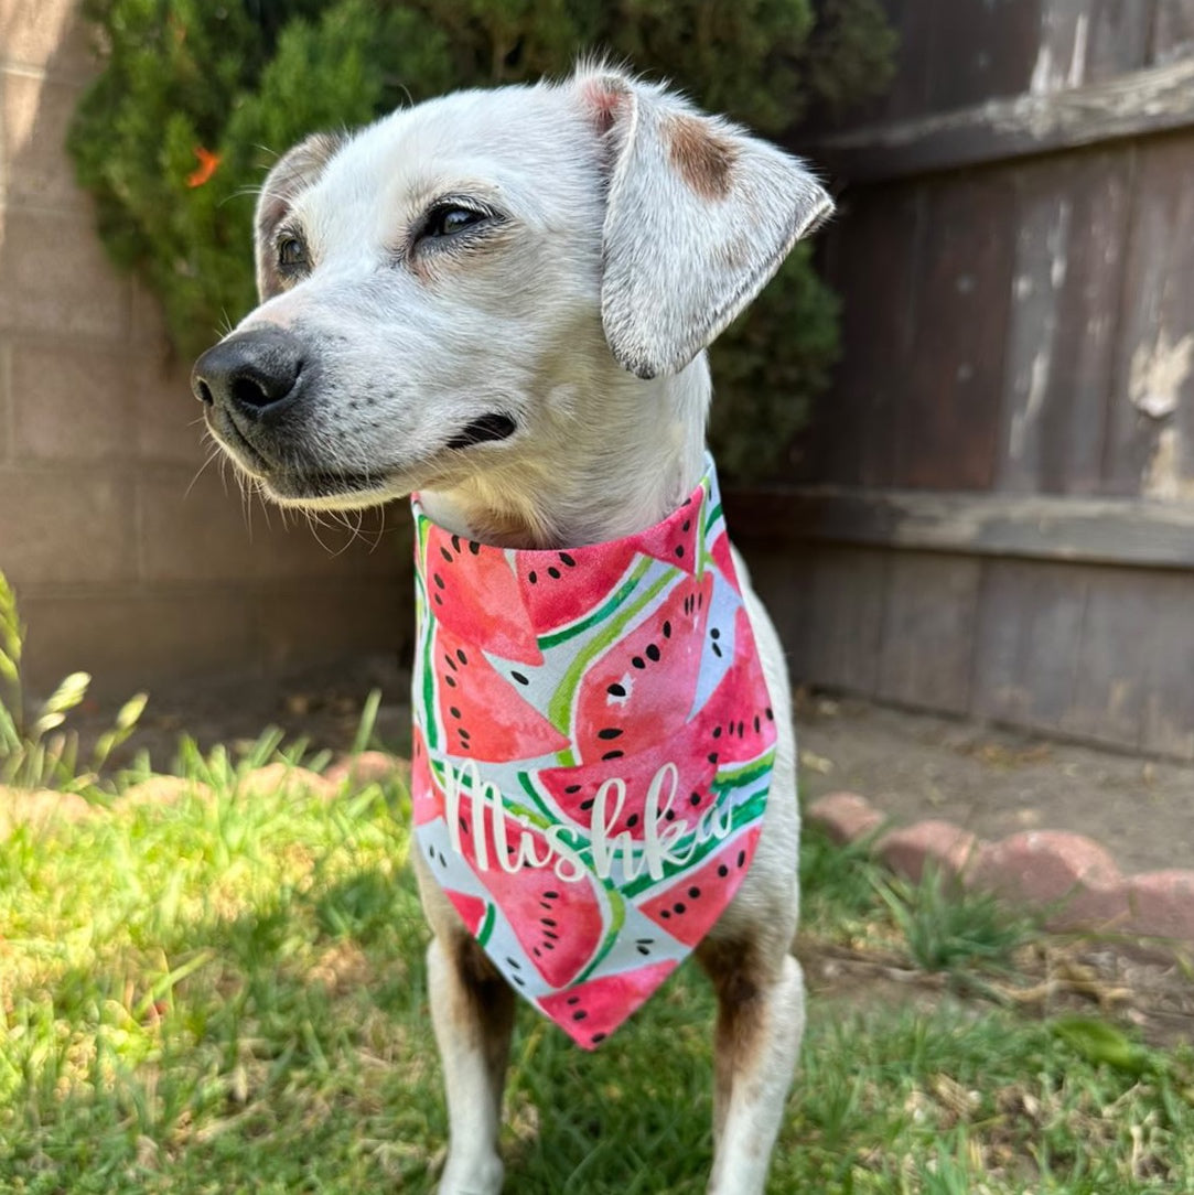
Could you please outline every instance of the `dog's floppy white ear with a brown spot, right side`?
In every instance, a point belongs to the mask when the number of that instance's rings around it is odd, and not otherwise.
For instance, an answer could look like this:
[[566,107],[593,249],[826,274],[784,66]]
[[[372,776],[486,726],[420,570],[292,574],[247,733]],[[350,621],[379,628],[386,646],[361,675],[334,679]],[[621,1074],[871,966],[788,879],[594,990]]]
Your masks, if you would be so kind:
[[833,210],[795,158],[614,72],[580,74],[604,141],[601,321],[639,378],[676,373]]

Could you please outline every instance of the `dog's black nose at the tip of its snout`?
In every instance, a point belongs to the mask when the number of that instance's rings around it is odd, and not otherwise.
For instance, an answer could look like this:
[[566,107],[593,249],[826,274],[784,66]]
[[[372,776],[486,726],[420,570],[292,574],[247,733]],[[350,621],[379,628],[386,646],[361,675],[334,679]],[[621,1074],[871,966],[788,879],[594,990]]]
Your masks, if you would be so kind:
[[208,406],[231,407],[257,419],[290,404],[302,363],[302,343],[284,329],[235,332],[195,362],[191,391]]

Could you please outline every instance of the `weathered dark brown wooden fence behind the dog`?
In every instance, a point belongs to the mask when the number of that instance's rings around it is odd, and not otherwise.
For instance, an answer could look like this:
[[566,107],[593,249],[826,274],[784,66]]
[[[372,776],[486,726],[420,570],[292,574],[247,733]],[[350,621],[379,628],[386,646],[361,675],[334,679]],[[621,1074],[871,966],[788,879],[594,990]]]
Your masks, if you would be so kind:
[[1194,759],[1194,0],[888,7],[800,146],[843,362],[737,537],[798,680]]

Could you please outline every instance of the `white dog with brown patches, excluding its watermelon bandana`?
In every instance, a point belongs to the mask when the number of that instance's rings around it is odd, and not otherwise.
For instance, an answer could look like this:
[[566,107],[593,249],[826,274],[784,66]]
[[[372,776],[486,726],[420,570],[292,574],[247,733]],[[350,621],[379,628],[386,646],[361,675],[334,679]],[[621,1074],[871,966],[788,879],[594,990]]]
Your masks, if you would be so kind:
[[[417,491],[485,545],[617,540],[692,492],[704,349],[831,210],[798,159],[620,68],[458,92],[276,163],[256,208],[261,305],[192,388],[284,505]],[[753,862],[696,954],[718,1001],[708,1190],[755,1195],[803,1034],[800,819],[783,651],[734,560],[777,739]],[[514,995],[414,853],[449,1116],[439,1191],[495,1195]]]

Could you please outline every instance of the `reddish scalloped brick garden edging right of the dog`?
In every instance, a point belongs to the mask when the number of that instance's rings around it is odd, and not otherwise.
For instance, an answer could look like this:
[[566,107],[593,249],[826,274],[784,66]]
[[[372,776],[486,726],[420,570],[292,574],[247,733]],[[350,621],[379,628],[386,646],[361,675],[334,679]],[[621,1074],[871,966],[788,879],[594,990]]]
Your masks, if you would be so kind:
[[1042,907],[1052,930],[1109,930],[1194,945],[1194,870],[1125,875],[1103,846],[1069,831],[1023,831],[988,842],[930,820],[881,833],[887,817],[855,792],[821,797],[804,819],[840,844],[874,839],[874,856],[913,882],[931,864],[965,888]]

